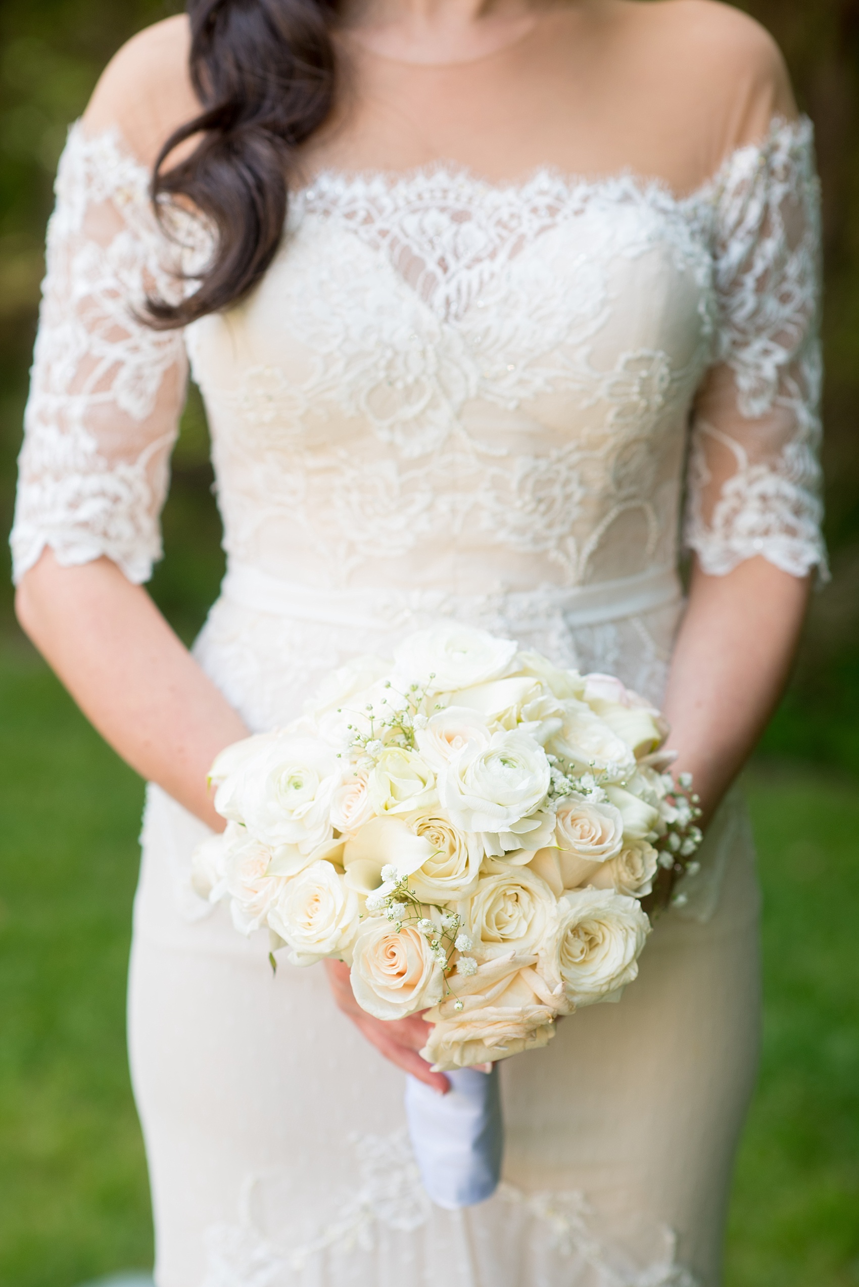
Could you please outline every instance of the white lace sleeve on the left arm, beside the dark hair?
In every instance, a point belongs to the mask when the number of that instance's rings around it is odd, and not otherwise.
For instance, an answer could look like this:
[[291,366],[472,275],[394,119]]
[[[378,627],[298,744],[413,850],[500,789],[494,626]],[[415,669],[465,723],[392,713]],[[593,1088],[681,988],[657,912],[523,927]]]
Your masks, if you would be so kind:
[[[158,516],[185,387],[182,335],[135,313],[169,291],[147,170],[118,134],[76,125],[59,163],[12,530],[18,580],[45,546],[106,555],[133,582],[161,556]],[[175,286],[174,286],[175,290]]]

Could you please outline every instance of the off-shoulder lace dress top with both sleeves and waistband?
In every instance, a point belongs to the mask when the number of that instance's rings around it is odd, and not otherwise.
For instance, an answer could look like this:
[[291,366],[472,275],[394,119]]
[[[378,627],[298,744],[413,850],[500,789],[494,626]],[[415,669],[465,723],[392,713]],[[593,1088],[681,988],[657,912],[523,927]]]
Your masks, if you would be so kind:
[[148,577],[187,351],[243,604],[222,642],[254,613],[319,627],[265,642],[252,620],[215,660],[215,614],[201,655],[251,723],[439,613],[658,696],[681,526],[713,574],[822,561],[807,121],[777,118],[685,198],[632,174],[323,172],[256,290],[184,335],[140,311],[178,288],[176,242],[198,255],[205,237],[188,216],[165,236],[178,215],[156,220],[147,184],[116,133],[72,130],[15,573],[49,544]]

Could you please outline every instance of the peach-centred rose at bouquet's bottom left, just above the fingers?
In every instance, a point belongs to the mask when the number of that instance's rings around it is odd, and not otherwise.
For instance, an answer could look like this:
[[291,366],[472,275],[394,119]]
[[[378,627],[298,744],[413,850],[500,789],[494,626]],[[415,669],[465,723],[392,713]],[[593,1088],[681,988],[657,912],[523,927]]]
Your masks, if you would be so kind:
[[377,1019],[402,1019],[440,1000],[444,974],[429,941],[413,925],[366,920],[352,952],[352,991]]

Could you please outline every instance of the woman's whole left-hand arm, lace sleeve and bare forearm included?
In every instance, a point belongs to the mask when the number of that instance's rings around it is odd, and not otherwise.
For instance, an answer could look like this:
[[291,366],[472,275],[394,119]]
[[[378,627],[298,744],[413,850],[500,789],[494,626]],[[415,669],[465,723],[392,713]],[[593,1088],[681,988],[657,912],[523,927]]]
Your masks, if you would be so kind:
[[161,553],[187,372],[182,335],[140,320],[147,293],[176,288],[148,185],[194,108],[185,60],[185,19],[137,36],[63,153],[12,547],[21,623],[93,723],[222,826],[206,772],[245,726],[140,586]]

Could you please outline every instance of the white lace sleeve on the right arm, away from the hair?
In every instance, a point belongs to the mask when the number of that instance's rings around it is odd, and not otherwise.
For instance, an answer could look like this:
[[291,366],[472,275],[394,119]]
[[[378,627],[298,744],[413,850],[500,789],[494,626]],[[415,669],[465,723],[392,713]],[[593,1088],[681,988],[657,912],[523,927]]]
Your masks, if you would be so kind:
[[804,577],[826,564],[810,121],[777,121],[737,152],[715,199],[719,344],[695,404],[685,542],[713,575],[762,555]]

